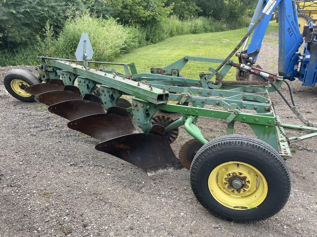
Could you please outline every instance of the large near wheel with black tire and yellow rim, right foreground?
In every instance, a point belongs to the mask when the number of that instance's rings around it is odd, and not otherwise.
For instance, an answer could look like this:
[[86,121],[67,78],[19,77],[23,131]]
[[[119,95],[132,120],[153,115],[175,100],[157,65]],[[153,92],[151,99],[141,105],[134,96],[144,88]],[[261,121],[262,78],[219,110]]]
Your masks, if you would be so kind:
[[215,216],[236,222],[263,220],[286,204],[291,181],[279,153],[244,135],[218,137],[194,157],[191,188]]

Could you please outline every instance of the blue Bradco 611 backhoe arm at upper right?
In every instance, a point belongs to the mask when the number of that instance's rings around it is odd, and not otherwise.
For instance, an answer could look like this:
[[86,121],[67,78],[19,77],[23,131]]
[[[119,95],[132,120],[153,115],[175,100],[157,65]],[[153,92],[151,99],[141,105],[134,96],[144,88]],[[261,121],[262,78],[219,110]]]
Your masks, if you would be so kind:
[[[279,10],[279,75],[291,81],[297,77],[303,82],[303,85],[314,86],[316,83],[317,32],[312,25],[306,27],[304,35],[306,36],[306,32],[310,35],[308,35],[308,40],[306,37],[304,52],[298,53],[304,41],[299,30],[295,0],[259,0],[249,30],[263,13],[266,15],[255,27],[249,45],[248,38],[242,51],[237,54],[239,62],[247,65],[256,63],[268,23],[277,6]],[[314,36],[316,37],[314,38]],[[314,39],[316,40],[314,41]],[[316,42],[316,46],[314,42]]]

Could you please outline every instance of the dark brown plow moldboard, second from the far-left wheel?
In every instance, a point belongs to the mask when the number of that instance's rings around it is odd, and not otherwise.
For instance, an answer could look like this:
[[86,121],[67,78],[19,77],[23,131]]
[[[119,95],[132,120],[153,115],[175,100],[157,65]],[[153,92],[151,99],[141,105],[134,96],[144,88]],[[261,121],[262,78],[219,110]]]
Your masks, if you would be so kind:
[[37,102],[51,106],[67,100],[81,100],[82,97],[77,87],[65,86],[63,90],[54,90],[38,94],[34,97],[34,99]]

